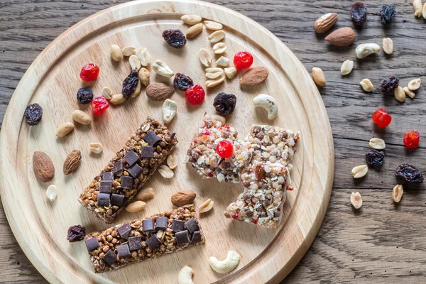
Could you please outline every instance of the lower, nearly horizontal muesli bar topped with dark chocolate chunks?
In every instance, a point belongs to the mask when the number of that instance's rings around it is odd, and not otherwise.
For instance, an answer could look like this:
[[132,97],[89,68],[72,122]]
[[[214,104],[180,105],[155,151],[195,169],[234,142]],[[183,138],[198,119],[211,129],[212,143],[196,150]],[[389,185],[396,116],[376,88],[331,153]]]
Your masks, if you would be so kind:
[[84,237],[95,273],[205,243],[194,205],[95,231]]

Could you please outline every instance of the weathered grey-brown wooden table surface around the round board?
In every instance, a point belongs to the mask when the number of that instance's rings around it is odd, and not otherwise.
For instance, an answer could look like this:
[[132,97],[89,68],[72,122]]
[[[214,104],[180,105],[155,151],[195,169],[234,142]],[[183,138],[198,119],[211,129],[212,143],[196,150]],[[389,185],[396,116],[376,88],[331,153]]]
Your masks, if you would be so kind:
[[[352,1],[228,0],[212,1],[239,11],[272,31],[293,50],[308,71],[320,67],[327,77],[320,92],[332,124],[336,151],[334,187],[324,223],[302,261],[283,283],[421,283],[426,271],[425,185],[404,187],[400,204],[392,201],[398,183],[394,171],[408,162],[426,171],[425,144],[415,151],[403,146],[403,135],[417,129],[426,135],[426,92],[421,87],[415,99],[401,104],[393,94],[383,95],[379,82],[389,75],[406,85],[417,77],[426,81],[426,21],[413,16],[411,0],[364,1],[368,17],[356,30],[353,46],[336,48],[325,35],[313,30],[324,13],[339,14],[337,27],[353,26],[349,16]],[[58,35],[87,16],[124,0],[7,0],[0,1],[0,124],[13,90],[35,57]],[[379,4],[379,2],[381,2]],[[383,3],[384,2],[384,3]],[[397,6],[393,23],[383,28],[378,11],[382,4]],[[327,33],[326,33],[327,34]],[[393,55],[383,51],[356,60],[359,43],[393,39]],[[346,59],[354,70],[340,75]],[[359,82],[373,82],[372,93],[363,92]],[[386,129],[377,129],[371,114],[385,107],[393,116]],[[354,180],[351,168],[365,163],[370,138],[386,141],[386,161]],[[351,192],[360,192],[363,207],[355,210]],[[1,204],[0,204],[1,207]],[[0,209],[0,283],[46,283],[18,246]]]

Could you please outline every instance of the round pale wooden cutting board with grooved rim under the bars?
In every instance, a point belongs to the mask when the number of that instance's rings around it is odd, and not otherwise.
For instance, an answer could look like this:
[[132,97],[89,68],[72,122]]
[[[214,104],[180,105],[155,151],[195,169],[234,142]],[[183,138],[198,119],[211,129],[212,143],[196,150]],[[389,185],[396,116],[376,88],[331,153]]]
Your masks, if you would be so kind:
[[[206,99],[199,107],[190,107],[183,93],[175,91],[171,99],[178,103],[178,114],[168,124],[179,139],[175,154],[180,164],[175,177],[168,180],[155,173],[146,183],[155,190],[147,208],[133,214],[122,212],[114,220],[115,225],[164,212],[173,208],[170,195],[179,190],[194,190],[196,207],[208,198],[214,200],[212,211],[200,216],[206,244],[94,274],[84,242],[68,243],[67,229],[81,224],[89,233],[111,225],[89,214],[77,197],[146,116],[161,119],[163,102],[151,101],[143,89],[140,96],[93,117],[89,126],[75,124],[75,130],[65,138],[56,138],[55,131],[65,121],[72,121],[75,109],[92,116],[89,106],[78,104],[75,99],[82,84],[80,69],[88,62],[96,63],[101,70],[92,85],[95,96],[101,95],[105,86],[115,93],[121,92],[131,67],[127,58],[111,61],[111,44],[147,48],[153,60],[163,60],[175,72],[189,75],[204,86],[206,77],[198,50],[206,48],[212,53],[208,40],[211,31],[204,27],[180,50],[170,48],[161,36],[168,28],[179,28],[185,33],[188,26],[180,21],[183,14],[197,14],[222,23],[227,45],[224,55],[233,58],[237,51],[248,50],[255,58],[253,66],[267,67],[269,77],[258,86],[240,87],[239,73],[233,80],[226,79],[223,84],[207,89]],[[173,80],[155,75],[151,67],[149,70],[151,82]],[[203,180],[184,163],[190,139],[204,112],[214,113],[212,102],[219,92],[237,97],[236,110],[227,118],[227,124],[239,131],[240,138],[249,133],[251,124],[271,124],[301,133],[293,160],[295,190],[287,193],[283,222],[277,229],[226,219],[224,209],[236,200],[243,190],[241,185]],[[275,97],[279,105],[277,119],[269,121],[266,111],[253,108],[251,100],[257,94]],[[33,102],[43,107],[43,120],[37,126],[28,126],[22,119],[23,111]],[[48,45],[29,67],[6,111],[0,138],[1,200],[6,216],[23,251],[51,283],[175,283],[185,265],[195,271],[195,283],[277,283],[290,273],[315,239],[332,190],[332,131],[320,93],[308,72],[278,38],[258,23],[222,6],[200,1],[132,1],[77,23]],[[92,142],[104,145],[102,154],[90,153]],[[74,149],[82,151],[82,165],[65,176],[62,164]],[[56,170],[52,181],[42,183],[35,179],[34,151],[43,151],[52,158]],[[53,202],[45,195],[51,184],[58,186],[58,197]],[[229,250],[241,255],[239,266],[227,274],[212,271],[209,257],[224,259]]]

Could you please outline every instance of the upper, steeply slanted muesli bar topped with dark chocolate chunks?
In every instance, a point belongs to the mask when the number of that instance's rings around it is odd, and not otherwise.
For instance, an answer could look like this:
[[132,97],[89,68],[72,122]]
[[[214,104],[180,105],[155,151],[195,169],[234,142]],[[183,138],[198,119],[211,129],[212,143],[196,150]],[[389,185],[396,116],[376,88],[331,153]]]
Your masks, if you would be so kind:
[[175,133],[148,117],[90,182],[79,202],[96,217],[111,224],[173,151],[176,143]]

